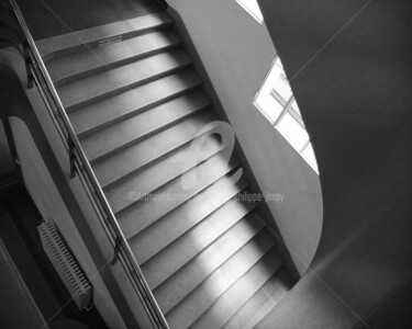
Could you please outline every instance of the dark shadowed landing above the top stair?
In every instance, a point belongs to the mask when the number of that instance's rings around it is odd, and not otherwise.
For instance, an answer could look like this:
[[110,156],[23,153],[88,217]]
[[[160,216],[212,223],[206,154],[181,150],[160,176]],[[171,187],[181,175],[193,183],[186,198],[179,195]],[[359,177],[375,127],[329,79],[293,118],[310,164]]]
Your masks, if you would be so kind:
[[34,39],[163,11],[160,0],[18,0]]

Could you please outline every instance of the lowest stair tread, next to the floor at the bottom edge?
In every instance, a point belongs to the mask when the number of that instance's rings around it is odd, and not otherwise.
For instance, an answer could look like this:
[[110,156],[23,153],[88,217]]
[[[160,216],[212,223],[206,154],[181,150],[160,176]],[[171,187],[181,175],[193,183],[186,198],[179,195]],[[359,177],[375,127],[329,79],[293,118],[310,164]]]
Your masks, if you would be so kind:
[[291,275],[282,266],[240,308],[223,328],[253,328],[255,320],[264,309],[266,310],[268,303],[278,303],[291,287]]

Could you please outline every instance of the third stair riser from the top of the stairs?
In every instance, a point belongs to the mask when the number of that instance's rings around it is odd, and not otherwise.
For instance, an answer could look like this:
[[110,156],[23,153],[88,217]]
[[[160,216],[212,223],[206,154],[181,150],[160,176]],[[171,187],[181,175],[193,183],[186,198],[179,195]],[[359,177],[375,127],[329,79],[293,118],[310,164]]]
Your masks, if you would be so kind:
[[116,89],[113,89],[111,91],[108,91],[108,92],[104,92],[104,93],[101,93],[97,97],[92,97],[92,98],[89,98],[88,100],[85,100],[85,101],[80,101],[76,104],[73,104],[73,105],[66,105],[65,109],[66,109],[66,112],[67,113],[71,113],[74,111],[77,111],[83,106],[87,106],[87,105],[91,105],[96,102],[100,102],[100,101],[103,101],[110,97],[113,97],[113,95],[116,95],[116,94],[120,94],[126,90],[130,90],[130,89],[134,89],[134,88],[137,88],[140,86],[143,86],[143,84],[146,84],[148,82],[152,82],[152,81],[155,81],[157,79],[160,79],[160,78],[165,78],[169,75],[172,75],[172,73],[176,73],[178,71],[181,71],[188,67],[191,66],[191,63],[187,63],[187,64],[183,64],[179,67],[174,67],[171,69],[168,69],[168,70],[165,70],[165,71],[162,71],[157,75],[153,75],[151,77],[147,77],[147,78],[143,78],[138,81],[135,81],[135,82],[132,82],[132,83],[129,83],[126,86],[123,86],[123,87],[120,87],[120,88],[116,88]]

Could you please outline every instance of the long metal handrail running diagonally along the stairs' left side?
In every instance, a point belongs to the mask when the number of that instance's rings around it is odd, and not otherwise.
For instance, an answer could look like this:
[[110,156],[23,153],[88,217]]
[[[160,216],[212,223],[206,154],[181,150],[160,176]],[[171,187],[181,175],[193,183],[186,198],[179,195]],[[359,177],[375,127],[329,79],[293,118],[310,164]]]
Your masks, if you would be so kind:
[[[63,103],[57,94],[57,91],[53,84],[53,81],[47,72],[45,64],[40,55],[40,52],[34,43],[34,39],[29,31],[27,24],[23,18],[23,14],[15,2],[10,0],[13,8],[14,14],[18,22],[23,31],[23,35],[26,38],[27,47],[30,49],[30,57],[32,60],[32,75],[34,82],[38,87],[41,95],[46,104],[47,111],[52,115],[52,120],[58,129],[58,133],[64,141],[66,151],[68,151],[70,158],[71,175],[78,173],[81,183],[83,184],[86,192],[99,216],[100,223],[107,232],[109,240],[113,245],[113,262],[118,259],[121,261],[126,270],[127,276],[130,277],[135,291],[141,298],[153,325],[156,328],[169,328],[167,321],[143,276],[143,272],[137,264],[136,259],[119,226],[119,223],[111,209],[109,202],[94,175],[94,172],[90,166],[89,160],[80,145],[80,141],[75,133],[74,127],[68,118],[68,115],[63,106]],[[46,90],[42,83],[45,83]],[[51,100],[47,98],[47,91]],[[57,113],[53,109],[57,109]],[[57,115],[56,115],[57,114]],[[65,133],[67,136],[65,136]]]

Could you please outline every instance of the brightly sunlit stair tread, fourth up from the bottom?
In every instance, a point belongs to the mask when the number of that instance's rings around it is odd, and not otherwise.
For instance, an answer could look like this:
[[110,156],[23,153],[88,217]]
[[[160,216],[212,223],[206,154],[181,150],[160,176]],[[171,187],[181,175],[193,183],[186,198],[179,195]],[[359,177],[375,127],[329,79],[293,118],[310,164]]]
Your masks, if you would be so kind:
[[247,226],[230,229],[158,286],[154,294],[163,313],[167,314],[245,245],[270,249],[274,246],[272,235],[267,229],[259,231],[261,226],[256,226],[255,229]]

